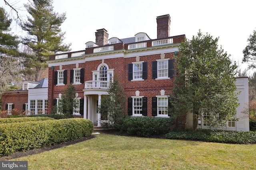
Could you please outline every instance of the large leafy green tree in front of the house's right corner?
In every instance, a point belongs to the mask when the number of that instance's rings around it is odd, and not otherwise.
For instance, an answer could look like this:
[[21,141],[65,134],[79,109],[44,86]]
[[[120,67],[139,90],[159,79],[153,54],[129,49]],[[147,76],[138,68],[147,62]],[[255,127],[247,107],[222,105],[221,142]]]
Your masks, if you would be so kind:
[[178,74],[171,104],[178,115],[193,114],[193,131],[198,117],[208,115],[210,126],[221,127],[236,114],[236,64],[218,48],[218,38],[198,35],[179,47],[176,57]]

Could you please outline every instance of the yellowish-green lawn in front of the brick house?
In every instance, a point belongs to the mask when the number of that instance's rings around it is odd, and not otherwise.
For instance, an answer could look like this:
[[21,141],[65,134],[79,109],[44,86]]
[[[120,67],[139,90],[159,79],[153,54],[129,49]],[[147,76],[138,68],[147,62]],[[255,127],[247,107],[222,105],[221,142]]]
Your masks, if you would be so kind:
[[88,141],[22,157],[29,170],[256,169],[256,145],[234,145],[100,133]]

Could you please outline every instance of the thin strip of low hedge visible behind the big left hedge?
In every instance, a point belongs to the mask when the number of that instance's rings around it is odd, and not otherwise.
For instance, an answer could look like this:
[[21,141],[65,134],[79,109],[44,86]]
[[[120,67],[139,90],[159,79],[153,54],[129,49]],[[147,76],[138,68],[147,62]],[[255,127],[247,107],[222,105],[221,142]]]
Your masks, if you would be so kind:
[[0,124],[2,123],[20,123],[26,121],[43,121],[53,120],[51,117],[13,117],[13,118],[1,118]]

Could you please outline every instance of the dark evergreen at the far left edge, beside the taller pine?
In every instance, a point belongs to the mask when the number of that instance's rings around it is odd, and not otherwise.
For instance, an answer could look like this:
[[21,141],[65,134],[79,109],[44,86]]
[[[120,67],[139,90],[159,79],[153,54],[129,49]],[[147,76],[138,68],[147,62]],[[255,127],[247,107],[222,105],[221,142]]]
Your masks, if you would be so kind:
[[0,7],[0,55],[1,56],[18,56],[18,36],[10,33],[10,25],[12,19],[8,18],[8,14],[4,8]]

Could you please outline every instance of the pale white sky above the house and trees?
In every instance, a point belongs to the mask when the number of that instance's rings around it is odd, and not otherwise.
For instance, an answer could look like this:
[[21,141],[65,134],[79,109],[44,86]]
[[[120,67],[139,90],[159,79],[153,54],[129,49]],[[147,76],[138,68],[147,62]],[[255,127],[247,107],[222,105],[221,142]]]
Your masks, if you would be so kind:
[[[28,0],[8,2],[22,10]],[[10,12],[3,0],[0,6]],[[66,32],[64,42],[72,43],[72,51],[84,50],[88,41],[95,42],[95,32],[102,28],[108,31],[109,39],[134,37],[139,32],[156,39],[156,17],[170,14],[170,36],[185,34],[192,39],[200,29],[203,34],[219,37],[218,44],[244,70],[247,64],[242,64],[242,51],[256,29],[256,0],[53,0],[53,6],[59,14],[66,12],[61,28]],[[26,20],[26,14],[20,14]],[[17,26],[12,31],[24,35]]]

